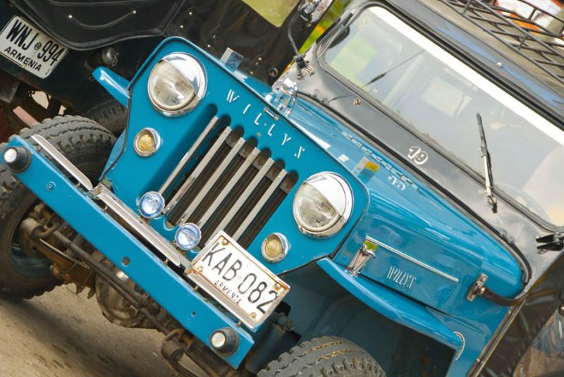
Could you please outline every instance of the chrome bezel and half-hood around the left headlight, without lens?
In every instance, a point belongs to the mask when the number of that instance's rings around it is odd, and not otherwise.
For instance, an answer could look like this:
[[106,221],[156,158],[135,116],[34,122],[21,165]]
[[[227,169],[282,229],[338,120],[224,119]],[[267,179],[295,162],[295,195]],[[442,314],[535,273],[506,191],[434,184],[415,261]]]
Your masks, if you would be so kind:
[[[178,73],[180,73],[180,75],[183,76],[186,83],[192,87],[194,97],[192,97],[192,99],[190,99],[186,104],[169,107],[159,103],[157,95],[154,93],[154,85],[152,85],[152,83],[154,75],[158,74],[158,70],[162,64],[170,64]],[[207,74],[204,66],[202,66],[202,63],[200,63],[200,61],[198,61],[194,56],[182,52],[175,52],[161,58],[152,68],[151,73],[149,73],[149,80],[147,80],[147,94],[149,95],[149,101],[151,101],[154,109],[164,116],[181,116],[188,113],[200,104],[206,94],[206,91]]]

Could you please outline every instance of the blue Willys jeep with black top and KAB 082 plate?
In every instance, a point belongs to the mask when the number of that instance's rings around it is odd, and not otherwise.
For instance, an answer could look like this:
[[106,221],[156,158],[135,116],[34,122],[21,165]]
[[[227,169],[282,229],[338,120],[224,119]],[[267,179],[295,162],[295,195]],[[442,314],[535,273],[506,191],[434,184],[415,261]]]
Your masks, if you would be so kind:
[[564,51],[530,8],[355,1],[272,87],[179,37],[98,68],[115,144],[71,116],[2,148],[1,294],[90,289],[188,376],[555,372]]

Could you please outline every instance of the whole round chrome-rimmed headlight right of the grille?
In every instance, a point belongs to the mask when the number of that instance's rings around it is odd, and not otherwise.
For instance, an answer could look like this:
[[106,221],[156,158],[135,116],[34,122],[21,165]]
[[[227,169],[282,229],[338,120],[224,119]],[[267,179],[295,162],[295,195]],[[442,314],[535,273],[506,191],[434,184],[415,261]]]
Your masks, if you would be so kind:
[[329,237],[343,228],[353,211],[353,192],[336,173],[317,173],[295,193],[293,212],[302,233]]

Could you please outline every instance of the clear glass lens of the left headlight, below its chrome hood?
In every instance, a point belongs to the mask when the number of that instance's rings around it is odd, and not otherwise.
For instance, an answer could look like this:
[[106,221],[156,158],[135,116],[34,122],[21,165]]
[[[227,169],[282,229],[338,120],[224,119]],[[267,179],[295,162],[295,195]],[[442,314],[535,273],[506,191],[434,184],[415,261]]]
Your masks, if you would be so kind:
[[154,103],[166,111],[183,109],[195,97],[194,87],[188,79],[166,61],[159,61],[153,68],[149,93]]

